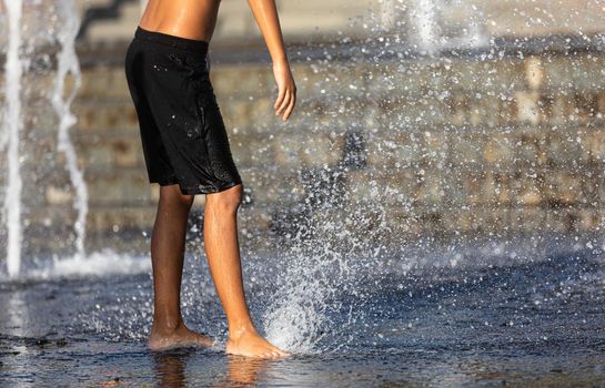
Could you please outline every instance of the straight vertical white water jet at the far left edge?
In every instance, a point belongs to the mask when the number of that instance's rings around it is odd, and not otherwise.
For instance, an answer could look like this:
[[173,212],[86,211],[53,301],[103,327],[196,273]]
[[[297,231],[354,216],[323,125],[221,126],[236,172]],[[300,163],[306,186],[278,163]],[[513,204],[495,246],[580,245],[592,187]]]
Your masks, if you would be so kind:
[[21,96],[19,85],[23,73],[23,63],[19,57],[21,47],[21,0],[4,0],[9,23],[9,44],[4,68],[4,134],[0,145],[8,147],[8,184],[4,195],[7,241],[7,269],[9,276],[19,274],[21,264],[21,162],[19,159],[19,132],[21,131]]

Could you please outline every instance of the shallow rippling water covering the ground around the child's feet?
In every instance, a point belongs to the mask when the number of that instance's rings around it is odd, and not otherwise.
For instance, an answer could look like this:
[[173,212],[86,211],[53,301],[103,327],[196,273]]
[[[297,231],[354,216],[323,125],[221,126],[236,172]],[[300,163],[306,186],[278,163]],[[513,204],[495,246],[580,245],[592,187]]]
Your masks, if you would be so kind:
[[[223,355],[222,312],[200,257],[188,257],[185,320],[219,345],[165,354],[144,347],[147,258],[105,253],[46,272],[30,264],[29,277],[0,282],[0,385],[605,386],[597,239],[521,242],[466,243],[450,256],[445,247],[407,248],[360,266],[346,284],[334,277],[341,292],[307,306],[323,323],[305,331],[317,337],[312,347],[272,361]],[[284,259],[246,257],[244,269],[254,319],[266,329]],[[300,328],[282,329],[291,331],[272,340]]]

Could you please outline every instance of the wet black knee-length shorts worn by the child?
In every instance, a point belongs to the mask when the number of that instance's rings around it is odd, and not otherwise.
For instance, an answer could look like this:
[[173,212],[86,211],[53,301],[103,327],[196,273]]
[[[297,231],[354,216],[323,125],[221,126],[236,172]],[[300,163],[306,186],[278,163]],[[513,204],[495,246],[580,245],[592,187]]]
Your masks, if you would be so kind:
[[149,181],[208,194],[242,183],[206,69],[208,42],[139,28],[125,58]]

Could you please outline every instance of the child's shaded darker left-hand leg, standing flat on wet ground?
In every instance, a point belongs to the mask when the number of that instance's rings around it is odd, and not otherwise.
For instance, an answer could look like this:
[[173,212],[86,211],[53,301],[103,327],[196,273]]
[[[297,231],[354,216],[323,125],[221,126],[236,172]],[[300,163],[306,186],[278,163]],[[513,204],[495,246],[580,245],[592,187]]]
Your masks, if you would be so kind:
[[192,195],[182,195],[179,185],[161,186],[158,214],[151,236],[153,265],[153,326],[149,347],[154,350],[212,341],[190,331],[181,317],[181,276],[186,222]]

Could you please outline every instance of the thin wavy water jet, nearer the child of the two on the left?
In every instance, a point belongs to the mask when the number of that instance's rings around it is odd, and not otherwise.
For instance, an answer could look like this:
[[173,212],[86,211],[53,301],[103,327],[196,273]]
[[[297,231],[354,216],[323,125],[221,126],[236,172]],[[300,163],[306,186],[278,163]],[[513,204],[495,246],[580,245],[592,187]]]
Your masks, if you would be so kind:
[[[84,239],[89,195],[84,174],[78,166],[78,156],[69,135],[70,127],[78,122],[78,119],[71,112],[71,103],[82,83],[80,63],[75,53],[75,37],[78,35],[78,30],[80,28],[80,18],[77,14],[73,0],[60,1],[59,12],[64,16],[65,24],[60,29],[58,34],[61,51],[58,53],[57,58],[57,78],[51,101],[59,118],[57,147],[59,152],[62,152],[65,155],[65,167],[69,172],[71,184],[75,190],[73,200],[73,206],[78,211],[78,218],[74,225],[75,255],[77,257],[82,258],[85,254]],[[69,90],[69,94],[63,96],[65,93],[65,81],[70,74],[73,78],[73,85]]]

